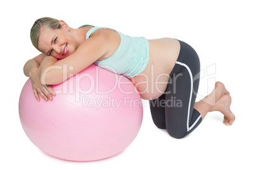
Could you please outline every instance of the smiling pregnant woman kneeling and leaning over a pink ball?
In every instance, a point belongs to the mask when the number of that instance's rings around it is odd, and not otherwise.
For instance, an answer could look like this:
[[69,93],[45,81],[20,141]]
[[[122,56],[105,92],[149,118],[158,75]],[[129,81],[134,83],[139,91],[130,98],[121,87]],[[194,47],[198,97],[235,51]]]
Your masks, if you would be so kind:
[[[174,138],[192,132],[208,112],[224,114],[224,124],[235,116],[231,96],[222,82],[203,100],[196,102],[200,63],[188,44],[171,38],[148,40],[129,37],[117,30],[92,25],[72,29],[62,20],[38,19],[31,29],[32,44],[41,55],[25,63],[24,74],[31,78],[34,95],[52,100],[54,91],[46,84],[59,84],[92,63],[125,75],[141,98],[150,100],[153,122]],[[59,60],[61,59],[61,60]],[[62,69],[51,69],[66,65]],[[43,85],[42,85],[43,84]]]

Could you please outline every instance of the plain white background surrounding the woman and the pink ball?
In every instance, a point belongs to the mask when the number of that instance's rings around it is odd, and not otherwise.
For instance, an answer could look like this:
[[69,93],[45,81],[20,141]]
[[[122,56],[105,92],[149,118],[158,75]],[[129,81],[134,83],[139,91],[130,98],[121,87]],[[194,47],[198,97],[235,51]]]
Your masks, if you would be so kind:
[[[3,1],[0,169],[255,169],[255,7],[246,0]],[[90,24],[129,36],[187,42],[199,54],[202,70],[215,68],[212,79],[202,77],[199,93],[206,95],[212,80],[224,82],[232,96],[234,125],[225,126],[222,114],[211,112],[193,133],[176,140],[154,126],[147,105],[138,136],[115,157],[69,162],[44,154],[27,138],[18,117],[18,98],[27,80],[22,69],[39,54],[29,33],[43,16],[73,28]]]

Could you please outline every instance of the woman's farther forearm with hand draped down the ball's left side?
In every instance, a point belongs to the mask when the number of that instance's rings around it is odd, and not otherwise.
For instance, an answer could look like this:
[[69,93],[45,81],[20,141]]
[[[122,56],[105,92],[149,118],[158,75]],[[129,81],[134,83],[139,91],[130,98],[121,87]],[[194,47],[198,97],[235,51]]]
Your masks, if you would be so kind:
[[[28,60],[24,65],[24,74],[27,77],[30,77],[32,90],[36,100],[40,100],[39,95],[42,96],[44,100],[52,100],[52,95],[55,95],[55,92],[50,86],[43,86],[39,80],[38,67],[45,58],[45,54],[41,53],[40,55]],[[38,95],[39,94],[39,95]],[[52,95],[51,95],[52,94]]]

